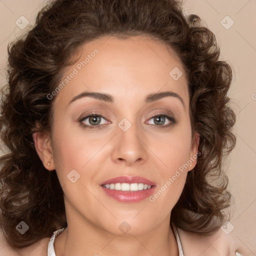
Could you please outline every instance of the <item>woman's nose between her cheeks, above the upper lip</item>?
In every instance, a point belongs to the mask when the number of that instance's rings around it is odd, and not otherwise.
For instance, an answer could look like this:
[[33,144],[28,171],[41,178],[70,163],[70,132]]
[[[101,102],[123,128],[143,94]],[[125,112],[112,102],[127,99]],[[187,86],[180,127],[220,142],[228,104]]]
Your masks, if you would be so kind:
[[114,136],[113,150],[111,158],[117,163],[131,166],[134,164],[142,164],[147,160],[147,146],[143,141],[142,130],[138,132],[135,124],[123,131],[117,127],[117,134]]

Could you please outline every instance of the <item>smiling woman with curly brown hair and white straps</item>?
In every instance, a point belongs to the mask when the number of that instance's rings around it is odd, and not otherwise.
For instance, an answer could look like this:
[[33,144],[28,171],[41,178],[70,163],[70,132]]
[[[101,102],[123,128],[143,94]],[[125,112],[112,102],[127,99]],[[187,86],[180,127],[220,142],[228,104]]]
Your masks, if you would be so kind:
[[239,255],[220,229],[232,73],[198,16],[55,0],[8,54],[0,224],[19,255]]

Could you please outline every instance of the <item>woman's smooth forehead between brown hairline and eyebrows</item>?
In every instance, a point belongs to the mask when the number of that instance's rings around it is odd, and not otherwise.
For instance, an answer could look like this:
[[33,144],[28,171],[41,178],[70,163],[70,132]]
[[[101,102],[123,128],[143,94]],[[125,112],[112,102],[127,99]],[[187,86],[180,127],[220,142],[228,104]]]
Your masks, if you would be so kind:
[[[74,57],[77,61],[59,82],[64,86],[56,96],[56,103],[67,104],[82,91],[134,100],[135,95],[142,98],[145,94],[171,90],[184,101],[188,99],[187,81],[178,56],[162,42],[149,37],[100,37],[83,44]],[[180,76],[178,79],[175,73]]]

